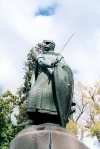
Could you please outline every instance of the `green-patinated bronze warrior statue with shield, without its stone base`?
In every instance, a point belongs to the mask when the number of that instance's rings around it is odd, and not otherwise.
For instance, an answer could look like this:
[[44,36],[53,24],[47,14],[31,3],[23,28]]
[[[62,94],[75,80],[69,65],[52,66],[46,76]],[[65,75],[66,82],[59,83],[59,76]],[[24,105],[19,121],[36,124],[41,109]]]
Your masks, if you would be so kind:
[[26,124],[55,123],[66,126],[75,105],[73,74],[61,54],[55,53],[55,43],[43,40],[38,44],[43,53],[36,56],[27,103],[29,119]]

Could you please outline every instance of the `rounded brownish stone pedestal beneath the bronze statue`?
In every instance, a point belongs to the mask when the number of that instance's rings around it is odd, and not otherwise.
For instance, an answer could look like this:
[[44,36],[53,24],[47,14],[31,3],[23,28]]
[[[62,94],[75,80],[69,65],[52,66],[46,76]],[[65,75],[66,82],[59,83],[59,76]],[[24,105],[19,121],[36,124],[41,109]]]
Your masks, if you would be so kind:
[[11,141],[10,149],[89,149],[73,133],[54,125],[29,126]]

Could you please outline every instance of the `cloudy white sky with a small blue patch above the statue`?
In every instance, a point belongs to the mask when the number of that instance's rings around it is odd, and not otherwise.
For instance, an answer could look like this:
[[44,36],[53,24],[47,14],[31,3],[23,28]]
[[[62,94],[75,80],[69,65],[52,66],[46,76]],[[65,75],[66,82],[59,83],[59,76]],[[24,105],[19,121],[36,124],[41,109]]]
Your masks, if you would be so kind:
[[0,0],[0,93],[23,84],[29,50],[44,39],[56,43],[74,81],[100,76],[100,0]]

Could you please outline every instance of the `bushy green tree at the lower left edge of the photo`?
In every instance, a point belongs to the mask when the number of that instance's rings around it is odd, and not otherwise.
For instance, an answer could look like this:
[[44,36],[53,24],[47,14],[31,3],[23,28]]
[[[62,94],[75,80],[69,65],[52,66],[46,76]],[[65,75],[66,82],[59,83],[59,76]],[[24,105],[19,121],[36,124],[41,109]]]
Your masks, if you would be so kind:
[[16,107],[18,97],[9,90],[0,95],[0,149],[8,149],[18,130],[11,121],[11,114]]

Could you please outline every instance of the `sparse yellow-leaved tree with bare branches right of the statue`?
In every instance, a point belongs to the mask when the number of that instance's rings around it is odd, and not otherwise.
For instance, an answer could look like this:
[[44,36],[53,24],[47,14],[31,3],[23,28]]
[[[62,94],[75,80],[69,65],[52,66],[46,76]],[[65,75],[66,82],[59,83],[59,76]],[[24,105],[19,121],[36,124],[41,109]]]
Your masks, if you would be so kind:
[[[100,132],[100,79],[93,85],[78,83],[75,90],[77,126],[88,128],[90,135]],[[84,129],[85,131],[85,129]]]

